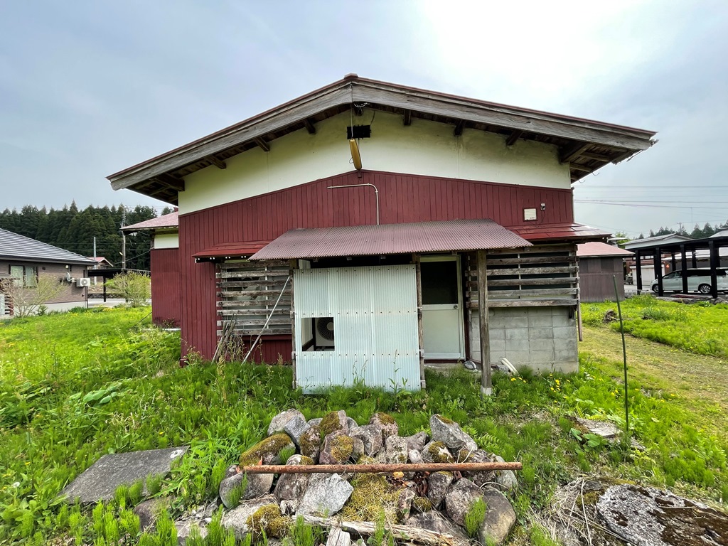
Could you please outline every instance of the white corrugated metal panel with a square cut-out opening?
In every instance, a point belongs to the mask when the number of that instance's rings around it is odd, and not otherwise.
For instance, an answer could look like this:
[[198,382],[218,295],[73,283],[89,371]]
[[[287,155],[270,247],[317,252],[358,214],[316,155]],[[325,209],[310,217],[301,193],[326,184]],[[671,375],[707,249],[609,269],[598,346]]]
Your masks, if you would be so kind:
[[[419,389],[416,272],[412,265],[297,269],[296,381],[304,392],[363,381]],[[333,317],[334,347],[302,351],[304,319]]]

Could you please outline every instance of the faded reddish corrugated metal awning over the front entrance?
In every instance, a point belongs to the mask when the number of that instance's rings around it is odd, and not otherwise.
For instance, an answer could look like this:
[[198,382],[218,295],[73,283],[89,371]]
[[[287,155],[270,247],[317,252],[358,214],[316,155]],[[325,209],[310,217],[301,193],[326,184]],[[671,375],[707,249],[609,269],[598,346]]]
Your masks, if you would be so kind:
[[448,220],[291,229],[250,259],[382,256],[529,246],[531,243],[523,237],[492,220]]

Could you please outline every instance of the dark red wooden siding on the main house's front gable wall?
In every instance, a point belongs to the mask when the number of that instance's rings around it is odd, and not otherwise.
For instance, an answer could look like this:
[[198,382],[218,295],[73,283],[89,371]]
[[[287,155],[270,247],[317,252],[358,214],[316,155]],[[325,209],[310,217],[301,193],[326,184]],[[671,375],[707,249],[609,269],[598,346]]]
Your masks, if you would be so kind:
[[[215,352],[215,266],[195,264],[194,253],[226,242],[273,240],[293,228],[376,223],[372,188],[326,189],[354,183],[379,189],[380,223],[491,218],[516,227],[573,221],[570,189],[378,172],[323,178],[181,215],[183,352],[194,349],[208,358]],[[537,222],[524,222],[523,208],[537,209]],[[290,341],[279,352],[289,360]]]

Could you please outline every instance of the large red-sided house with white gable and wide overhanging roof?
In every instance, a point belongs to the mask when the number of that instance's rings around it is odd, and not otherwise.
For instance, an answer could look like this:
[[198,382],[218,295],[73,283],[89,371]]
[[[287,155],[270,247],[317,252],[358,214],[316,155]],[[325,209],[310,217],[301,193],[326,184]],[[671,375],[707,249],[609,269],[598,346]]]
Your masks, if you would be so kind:
[[108,179],[179,206],[183,353],[262,331],[306,390],[418,388],[424,360],[577,369],[576,243],[608,234],[571,183],[653,136],[349,75]]

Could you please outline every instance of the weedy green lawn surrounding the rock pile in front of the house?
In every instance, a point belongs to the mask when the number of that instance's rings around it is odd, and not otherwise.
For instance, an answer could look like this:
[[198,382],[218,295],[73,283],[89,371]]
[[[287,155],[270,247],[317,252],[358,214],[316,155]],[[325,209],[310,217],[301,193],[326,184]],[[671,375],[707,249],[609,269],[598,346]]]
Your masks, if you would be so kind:
[[[427,429],[435,413],[459,422],[481,448],[523,462],[518,490],[510,494],[519,522],[513,545],[552,544],[532,516],[547,507],[559,483],[578,475],[607,474],[726,502],[728,441],[720,434],[725,417],[715,414],[726,396],[720,384],[704,387],[712,398],[694,391],[708,383],[703,373],[674,373],[703,365],[717,377],[717,359],[640,341],[640,354],[652,356],[630,363],[629,397],[630,424],[644,452],[607,445],[572,427],[573,415],[622,424],[617,338],[608,327],[588,327],[579,373],[496,374],[488,400],[480,399],[477,376],[466,372],[428,373],[422,392],[355,386],[304,396],[290,388],[290,367],[191,358],[180,368],[178,335],[151,328],[149,309],[0,323],[0,543],[170,542],[168,526],[154,536],[139,532],[130,511],[136,488],[94,510],[68,507],[56,496],[103,454],[187,444],[183,462],[154,488],[177,497],[170,509],[175,515],[212,499],[224,469],[264,437],[272,416],[290,407],[307,418],[343,408],[360,423],[386,411],[400,435]],[[222,539],[218,534],[207,543]]]

